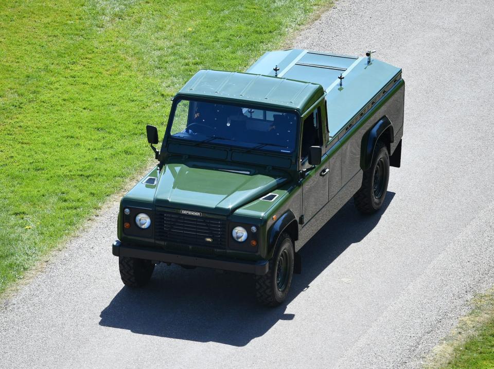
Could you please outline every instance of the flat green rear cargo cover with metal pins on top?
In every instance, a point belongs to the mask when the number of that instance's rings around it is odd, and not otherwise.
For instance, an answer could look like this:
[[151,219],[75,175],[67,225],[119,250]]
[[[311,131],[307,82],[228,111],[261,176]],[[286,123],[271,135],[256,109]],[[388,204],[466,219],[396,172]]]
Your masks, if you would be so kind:
[[[390,83],[401,78],[401,69],[373,58],[351,57],[319,51],[288,49],[263,54],[247,71],[277,78],[319,83],[327,101],[332,136],[379,98]],[[340,87],[339,76],[343,77]]]

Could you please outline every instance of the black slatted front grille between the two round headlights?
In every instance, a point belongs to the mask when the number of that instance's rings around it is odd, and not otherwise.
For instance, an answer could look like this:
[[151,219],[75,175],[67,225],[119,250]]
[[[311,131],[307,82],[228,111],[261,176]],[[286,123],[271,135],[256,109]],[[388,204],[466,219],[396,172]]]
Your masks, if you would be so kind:
[[[154,234],[165,244],[226,248],[226,220],[157,211]],[[207,241],[206,241],[207,240]]]

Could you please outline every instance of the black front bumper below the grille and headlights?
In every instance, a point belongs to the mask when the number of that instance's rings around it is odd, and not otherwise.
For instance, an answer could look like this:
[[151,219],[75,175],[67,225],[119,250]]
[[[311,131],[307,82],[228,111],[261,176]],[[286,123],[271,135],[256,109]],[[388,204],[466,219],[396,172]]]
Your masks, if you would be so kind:
[[268,261],[248,262],[225,259],[208,259],[189,255],[171,254],[146,248],[137,248],[122,245],[118,239],[112,245],[112,253],[115,256],[129,256],[137,259],[153,260],[163,263],[192,265],[197,267],[232,270],[242,273],[263,275],[268,272]]

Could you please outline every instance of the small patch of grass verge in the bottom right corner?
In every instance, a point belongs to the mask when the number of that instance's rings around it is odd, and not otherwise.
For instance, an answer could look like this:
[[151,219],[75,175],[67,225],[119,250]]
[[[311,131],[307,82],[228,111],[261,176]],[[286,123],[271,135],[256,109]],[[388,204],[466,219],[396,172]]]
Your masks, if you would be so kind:
[[472,304],[472,311],[434,347],[424,368],[494,368],[494,288],[475,297]]

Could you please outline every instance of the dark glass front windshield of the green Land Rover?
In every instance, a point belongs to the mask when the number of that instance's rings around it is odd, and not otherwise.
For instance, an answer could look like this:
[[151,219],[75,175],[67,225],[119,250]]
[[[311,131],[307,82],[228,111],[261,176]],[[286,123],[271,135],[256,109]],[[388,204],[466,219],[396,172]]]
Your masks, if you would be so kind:
[[175,108],[171,136],[200,143],[244,147],[246,151],[295,150],[297,116],[238,105],[181,100]]

